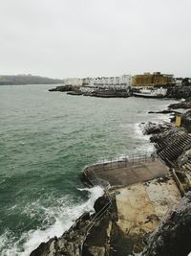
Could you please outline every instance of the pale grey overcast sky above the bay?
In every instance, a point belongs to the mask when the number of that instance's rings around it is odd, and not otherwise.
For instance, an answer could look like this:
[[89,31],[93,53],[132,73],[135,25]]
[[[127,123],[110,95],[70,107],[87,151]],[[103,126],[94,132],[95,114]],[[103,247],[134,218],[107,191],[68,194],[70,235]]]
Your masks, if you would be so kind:
[[0,74],[191,77],[191,0],[0,0]]

